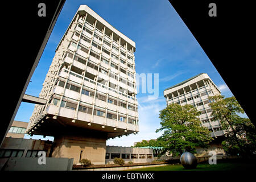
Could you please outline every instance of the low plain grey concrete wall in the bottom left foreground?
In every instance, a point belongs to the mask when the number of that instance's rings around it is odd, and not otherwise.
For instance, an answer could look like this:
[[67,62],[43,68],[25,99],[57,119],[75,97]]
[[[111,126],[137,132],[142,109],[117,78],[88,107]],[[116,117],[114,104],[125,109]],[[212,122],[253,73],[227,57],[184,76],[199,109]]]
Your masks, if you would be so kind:
[[46,158],[46,164],[39,164],[39,158],[10,158],[5,171],[70,171],[73,159]]

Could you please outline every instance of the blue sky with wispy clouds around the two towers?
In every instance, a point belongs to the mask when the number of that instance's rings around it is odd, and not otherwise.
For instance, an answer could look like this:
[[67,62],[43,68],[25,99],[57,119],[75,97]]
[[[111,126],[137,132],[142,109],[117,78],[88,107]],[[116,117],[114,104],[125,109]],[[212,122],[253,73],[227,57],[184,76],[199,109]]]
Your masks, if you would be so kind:
[[[159,110],[166,106],[163,90],[199,73],[208,73],[220,88],[222,95],[232,96],[228,86],[168,0],[67,0],[31,78],[26,94],[39,96],[57,44],[80,5],[88,5],[136,43],[135,69],[137,73],[159,73],[159,97],[156,100],[148,100],[147,93],[137,95],[139,133],[110,139],[107,141],[108,145],[131,146],[133,142],[142,139],[159,137],[161,133],[155,133],[155,130],[160,128]],[[33,110],[34,104],[22,102],[15,120],[28,122]],[[38,139],[39,137],[26,136],[25,138]],[[52,140],[53,138],[44,139]]]

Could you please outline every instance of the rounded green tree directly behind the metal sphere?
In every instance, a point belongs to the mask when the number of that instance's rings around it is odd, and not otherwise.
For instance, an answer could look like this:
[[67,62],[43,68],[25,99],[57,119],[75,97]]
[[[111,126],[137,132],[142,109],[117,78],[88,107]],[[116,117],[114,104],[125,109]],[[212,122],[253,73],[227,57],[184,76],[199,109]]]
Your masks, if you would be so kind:
[[159,118],[162,127],[156,132],[164,131],[159,137],[164,151],[170,151],[174,155],[181,155],[183,151],[195,153],[196,147],[208,148],[213,140],[207,127],[201,126],[197,111],[192,105],[181,106],[170,104],[160,110]]

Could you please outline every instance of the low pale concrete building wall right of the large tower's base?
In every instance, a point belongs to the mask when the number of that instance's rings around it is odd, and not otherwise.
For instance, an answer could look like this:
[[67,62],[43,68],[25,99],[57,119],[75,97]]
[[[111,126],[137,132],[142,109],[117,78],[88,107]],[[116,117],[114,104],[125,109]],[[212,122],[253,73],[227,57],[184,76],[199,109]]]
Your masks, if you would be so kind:
[[[153,150],[151,148],[131,148],[131,147],[118,147],[118,146],[106,146],[106,153],[110,154],[110,159],[106,159],[106,164],[113,164],[113,160],[111,159],[111,154],[120,154],[122,158],[122,154],[130,154],[130,159],[123,159],[125,163],[132,161],[133,163],[148,163],[154,160],[153,158]],[[131,154],[138,154],[138,159],[131,159]],[[139,154],[146,154],[146,159],[139,159]],[[152,155],[152,159],[147,159],[147,154]]]

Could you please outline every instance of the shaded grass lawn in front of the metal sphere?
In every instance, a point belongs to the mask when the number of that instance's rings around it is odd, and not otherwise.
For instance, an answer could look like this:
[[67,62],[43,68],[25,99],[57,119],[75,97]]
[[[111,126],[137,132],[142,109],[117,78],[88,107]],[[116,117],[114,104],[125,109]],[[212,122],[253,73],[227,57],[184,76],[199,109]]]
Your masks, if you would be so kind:
[[216,165],[198,164],[196,169],[185,169],[181,164],[130,169],[129,171],[248,171],[255,170],[255,163],[217,162]]

